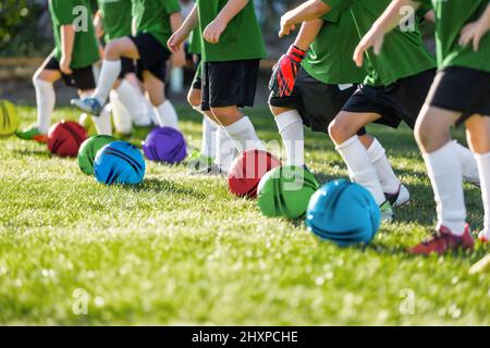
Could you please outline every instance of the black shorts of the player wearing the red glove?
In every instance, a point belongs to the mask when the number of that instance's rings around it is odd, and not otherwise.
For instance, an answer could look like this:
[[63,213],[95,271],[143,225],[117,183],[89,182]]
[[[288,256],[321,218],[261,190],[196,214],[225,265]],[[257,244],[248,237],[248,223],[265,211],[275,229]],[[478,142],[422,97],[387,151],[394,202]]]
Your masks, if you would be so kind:
[[[328,133],[329,124],[335,119],[345,102],[356,90],[357,85],[345,86],[324,84],[305,70],[301,70],[293,92],[289,97],[269,96],[269,105],[295,109],[303,123],[314,132]],[[363,129],[359,135],[366,134]]]

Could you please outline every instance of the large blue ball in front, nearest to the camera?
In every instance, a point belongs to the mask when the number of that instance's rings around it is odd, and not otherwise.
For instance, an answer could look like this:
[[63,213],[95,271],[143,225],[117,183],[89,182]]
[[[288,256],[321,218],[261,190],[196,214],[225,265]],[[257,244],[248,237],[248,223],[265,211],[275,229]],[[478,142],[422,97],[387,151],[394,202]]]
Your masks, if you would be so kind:
[[369,243],[381,223],[371,194],[346,179],[331,182],[309,201],[306,225],[315,236],[341,247]]

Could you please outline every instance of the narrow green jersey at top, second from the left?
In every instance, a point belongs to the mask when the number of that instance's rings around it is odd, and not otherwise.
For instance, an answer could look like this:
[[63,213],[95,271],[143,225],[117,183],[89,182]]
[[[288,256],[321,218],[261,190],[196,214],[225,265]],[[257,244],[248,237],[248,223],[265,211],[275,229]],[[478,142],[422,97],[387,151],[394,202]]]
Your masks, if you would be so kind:
[[131,0],[98,0],[106,42],[131,35]]

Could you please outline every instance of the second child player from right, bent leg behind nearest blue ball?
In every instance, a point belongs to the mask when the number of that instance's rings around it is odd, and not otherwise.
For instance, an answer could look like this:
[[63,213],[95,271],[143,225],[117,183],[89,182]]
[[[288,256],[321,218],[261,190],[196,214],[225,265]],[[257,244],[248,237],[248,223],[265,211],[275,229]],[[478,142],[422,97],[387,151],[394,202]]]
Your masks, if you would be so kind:
[[[310,0],[283,15],[280,34],[286,35],[297,23],[330,11],[348,11],[362,37],[389,3],[390,0]],[[416,21],[408,30],[391,33],[385,41],[384,53],[368,55],[365,64],[368,75],[329,125],[329,134],[352,179],[372,194],[389,220],[391,203],[385,200],[379,176],[357,133],[372,122],[396,128],[404,121],[414,127],[433,80],[436,62],[424,46]],[[460,145],[455,145],[455,149],[467,163],[468,181],[478,183],[478,170],[470,151]]]

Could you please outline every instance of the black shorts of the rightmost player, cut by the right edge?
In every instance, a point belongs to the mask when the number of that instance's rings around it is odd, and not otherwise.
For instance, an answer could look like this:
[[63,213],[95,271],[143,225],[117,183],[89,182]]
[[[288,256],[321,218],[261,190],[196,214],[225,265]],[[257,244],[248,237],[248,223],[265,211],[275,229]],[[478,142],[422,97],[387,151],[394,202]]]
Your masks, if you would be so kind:
[[431,107],[460,112],[457,124],[470,116],[490,116],[490,73],[450,66],[438,72],[427,97]]

